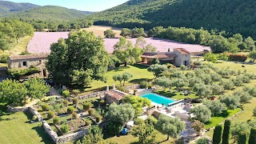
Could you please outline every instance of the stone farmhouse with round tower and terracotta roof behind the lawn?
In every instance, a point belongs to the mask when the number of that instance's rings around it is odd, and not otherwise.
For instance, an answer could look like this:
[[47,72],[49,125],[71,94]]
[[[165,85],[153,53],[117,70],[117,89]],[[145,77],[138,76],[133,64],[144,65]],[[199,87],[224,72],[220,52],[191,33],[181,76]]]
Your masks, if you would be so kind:
[[172,52],[145,52],[142,54],[143,63],[151,64],[154,58],[158,58],[161,63],[190,66],[191,54],[183,48],[176,48]]

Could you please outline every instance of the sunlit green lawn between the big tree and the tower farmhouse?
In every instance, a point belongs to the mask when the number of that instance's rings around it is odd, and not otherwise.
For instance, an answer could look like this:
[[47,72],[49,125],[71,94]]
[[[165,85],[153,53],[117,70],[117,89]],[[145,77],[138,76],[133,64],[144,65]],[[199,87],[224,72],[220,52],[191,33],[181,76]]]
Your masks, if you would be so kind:
[[[116,86],[119,85],[119,82],[114,82],[114,74],[123,74],[130,73],[133,75],[133,78],[129,82],[126,82],[127,85],[132,85],[135,83],[142,82],[144,80],[150,81],[154,78],[154,75],[146,70],[147,66],[134,65],[134,66],[121,66],[117,70],[109,70],[106,74],[107,82],[94,81],[91,83],[89,88],[86,88],[85,92],[93,92],[98,90],[106,90],[106,86]],[[86,94],[83,93],[83,94]],[[82,94],[79,94],[82,95]]]

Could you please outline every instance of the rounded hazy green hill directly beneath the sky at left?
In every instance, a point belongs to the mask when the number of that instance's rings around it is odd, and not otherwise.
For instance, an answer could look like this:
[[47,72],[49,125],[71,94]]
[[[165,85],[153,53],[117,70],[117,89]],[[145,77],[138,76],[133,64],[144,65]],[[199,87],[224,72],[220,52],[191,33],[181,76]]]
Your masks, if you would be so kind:
[[7,17],[22,18],[25,20],[33,19],[34,21],[42,20],[52,22],[67,22],[76,18],[82,18],[86,14],[89,13],[78,10],[70,10],[61,6],[40,6],[34,9],[10,14]]

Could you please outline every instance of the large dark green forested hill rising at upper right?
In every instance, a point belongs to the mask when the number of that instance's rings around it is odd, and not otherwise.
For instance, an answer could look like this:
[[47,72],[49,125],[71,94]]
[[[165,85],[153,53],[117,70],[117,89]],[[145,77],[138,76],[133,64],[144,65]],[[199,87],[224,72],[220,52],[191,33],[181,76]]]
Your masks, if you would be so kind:
[[91,17],[96,25],[146,30],[154,26],[203,27],[256,38],[255,0],[130,0]]

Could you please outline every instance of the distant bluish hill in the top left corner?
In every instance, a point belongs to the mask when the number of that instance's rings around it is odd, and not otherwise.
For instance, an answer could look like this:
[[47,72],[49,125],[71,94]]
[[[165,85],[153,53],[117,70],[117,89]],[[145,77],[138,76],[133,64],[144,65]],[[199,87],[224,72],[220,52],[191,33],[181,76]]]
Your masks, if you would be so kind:
[[15,3],[0,1],[0,14],[10,14],[22,10],[30,10],[32,8],[38,7],[31,3]]

